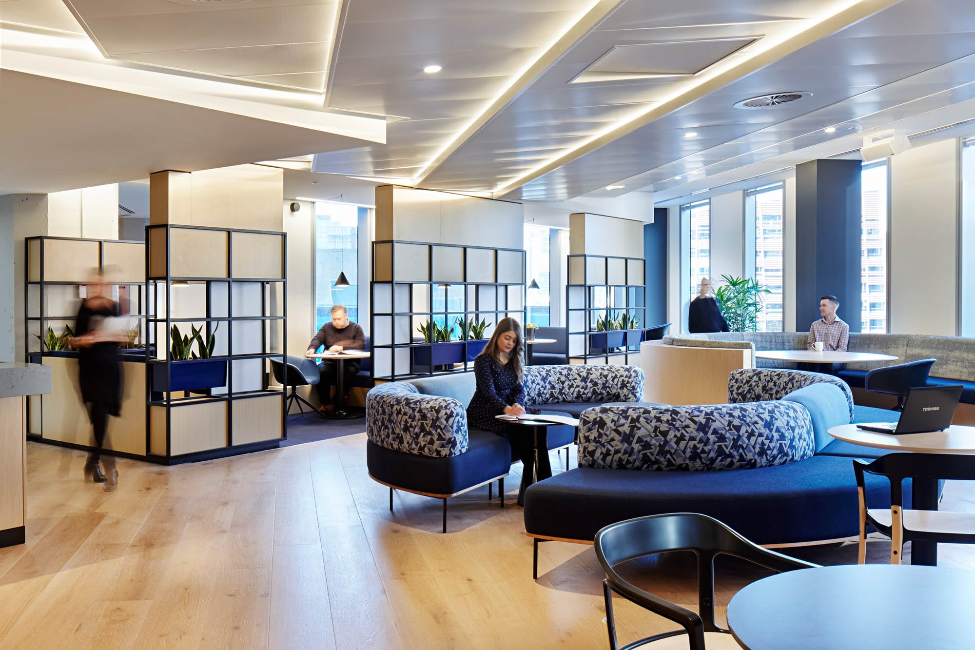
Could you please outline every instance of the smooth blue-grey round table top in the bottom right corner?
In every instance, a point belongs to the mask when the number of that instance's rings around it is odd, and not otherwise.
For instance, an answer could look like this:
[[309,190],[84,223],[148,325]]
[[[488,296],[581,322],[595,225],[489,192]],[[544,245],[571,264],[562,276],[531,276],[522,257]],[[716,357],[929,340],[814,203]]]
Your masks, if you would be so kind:
[[776,574],[728,603],[747,650],[972,647],[971,569],[845,564]]

